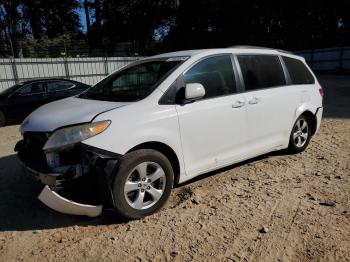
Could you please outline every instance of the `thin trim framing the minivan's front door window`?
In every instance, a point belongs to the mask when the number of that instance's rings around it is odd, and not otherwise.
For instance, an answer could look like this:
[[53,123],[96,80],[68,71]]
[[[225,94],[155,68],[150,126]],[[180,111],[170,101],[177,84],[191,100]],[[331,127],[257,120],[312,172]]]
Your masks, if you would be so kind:
[[232,66],[232,70],[233,70],[233,74],[235,76],[235,82],[236,82],[236,90],[237,92],[236,93],[232,93],[232,94],[225,94],[225,95],[221,95],[221,96],[214,96],[214,97],[207,97],[207,98],[202,98],[202,99],[199,99],[199,100],[196,100],[195,102],[196,103],[199,103],[201,101],[206,101],[206,100],[209,100],[209,99],[216,99],[216,98],[222,98],[222,97],[225,97],[225,96],[233,96],[233,95],[238,95],[238,94],[241,94],[244,92],[242,86],[241,86],[241,81],[239,79],[239,71],[238,71],[238,68],[235,64],[235,58],[234,58],[234,54],[232,52],[225,52],[225,53],[220,53],[220,54],[212,54],[212,55],[207,55],[207,56],[204,56],[202,58],[200,58],[199,60],[196,60],[194,61],[192,64],[190,64],[177,78],[176,80],[167,88],[167,90],[164,92],[164,94],[160,97],[160,99],[158,100],[158,104],[159,105],[184,105],[184,104],[180,104],[180,103],[177,103],[175,101],[175,103],[162,103],[161,100],[163,99],[163,96],[166,95],[166,92],[168,92],[168,90],[175,84],[176,85],[176,92],[178,92],[181,88],[183,88],[183,86],[179,86],[179,82],[181,83],[185,83],[185,80],[184,80],[184,74],[190,70],[193,66],[195,66],[196,64],[200,63],[201,61],[205,60],[205,59],[208,59],[208,58],[212,58],[212,57],[217,57],[217,56],[224,56],[224,55],[227,55],[230,57],[231,59],[231,66]]

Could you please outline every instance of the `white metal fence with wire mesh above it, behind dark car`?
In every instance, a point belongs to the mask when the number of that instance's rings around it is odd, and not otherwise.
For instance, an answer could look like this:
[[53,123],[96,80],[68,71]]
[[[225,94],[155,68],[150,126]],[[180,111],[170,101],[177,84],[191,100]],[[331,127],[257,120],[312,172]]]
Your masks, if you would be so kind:
[[93,85],[138,59],[130,42],[112,45],[102,41],[94,45],[64,36],[43,40],[6,39],[0,41],[0,91],[35,78],[67,78]]

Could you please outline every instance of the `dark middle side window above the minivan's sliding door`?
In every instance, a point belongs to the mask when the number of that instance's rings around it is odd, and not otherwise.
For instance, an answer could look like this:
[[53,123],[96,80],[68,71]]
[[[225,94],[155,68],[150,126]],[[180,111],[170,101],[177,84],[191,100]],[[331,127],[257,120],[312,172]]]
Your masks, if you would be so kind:
[[286,84],[283,68],[278,56],[239,55],[245,90],[256,90]]

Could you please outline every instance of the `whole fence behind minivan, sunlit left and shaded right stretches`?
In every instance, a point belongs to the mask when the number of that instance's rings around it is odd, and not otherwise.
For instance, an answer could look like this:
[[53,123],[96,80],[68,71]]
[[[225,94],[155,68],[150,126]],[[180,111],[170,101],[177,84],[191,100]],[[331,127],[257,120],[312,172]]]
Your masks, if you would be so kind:
[[[350,72],[350,47],[295,52],[316,72]],[[16,58],[0,59],[0,91],[34,78],[62,77],[89,85],[140,57]]]

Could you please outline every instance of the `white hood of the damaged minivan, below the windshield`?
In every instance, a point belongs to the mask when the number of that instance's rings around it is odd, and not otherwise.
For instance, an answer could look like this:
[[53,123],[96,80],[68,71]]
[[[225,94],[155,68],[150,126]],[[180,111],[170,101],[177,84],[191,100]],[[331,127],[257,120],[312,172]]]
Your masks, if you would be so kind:
[[21,133],[52,132],[57,128],[92,121],[94,117],[129,103],[69,97],[39,107],[22,123]]

